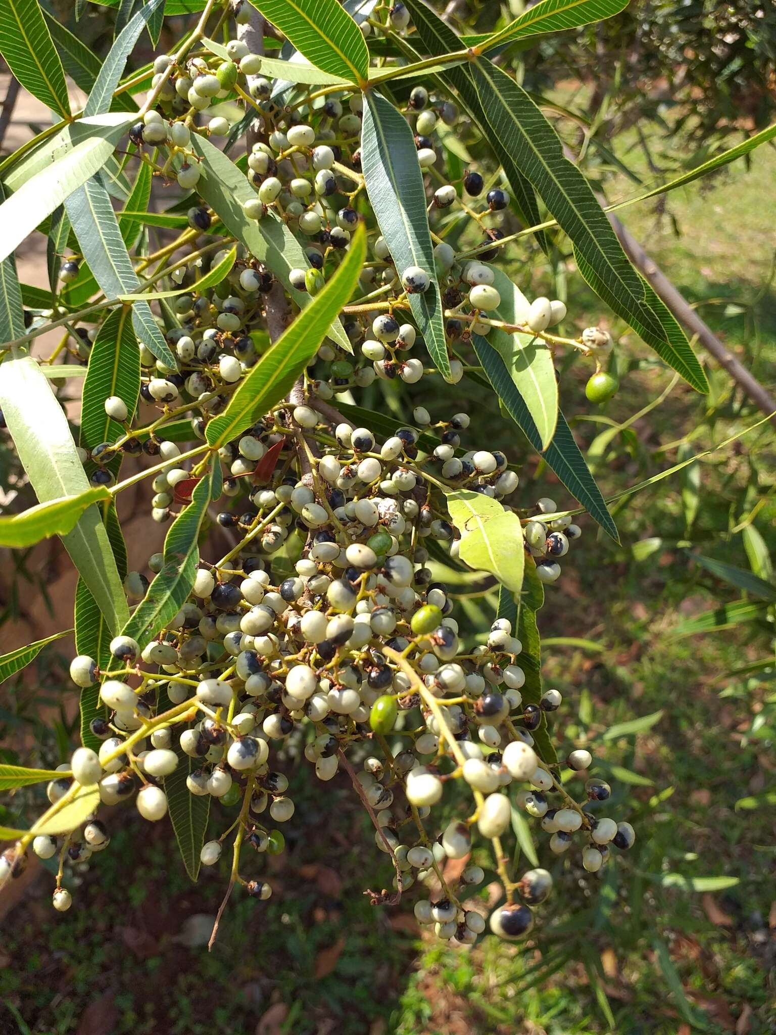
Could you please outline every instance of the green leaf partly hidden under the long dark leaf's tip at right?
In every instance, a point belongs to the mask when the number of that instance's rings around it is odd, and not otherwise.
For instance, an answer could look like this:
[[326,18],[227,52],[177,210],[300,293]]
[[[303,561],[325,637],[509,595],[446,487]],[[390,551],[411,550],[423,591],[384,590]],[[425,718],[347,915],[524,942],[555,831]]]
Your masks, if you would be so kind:
[[[559,220],[560,221],[560,220]],[[633,330],[651,346],[664,362],[671,366],[678,374],[700,392],[709,391],[709,383],[706,379],[703,366],[700,366],[695,353],[690,348],[687,336],[677,323],[676,317],[667,308],[661,298],[653,291],[651,285],[640,275],[644,287],[645,300],[650,309],[659,318],[662,324],[662,332],[655,334],[652,327],[641,320],[641,315],[636,313],[630,305],[629,299],[623,299],[618,294],[611,294],[605,282],[598,271],[588,262],[587,258],[573,245],[574,260],[576,268],[583,278],[588,282],[595,293],[602,298],[619,317],[629,323]]]

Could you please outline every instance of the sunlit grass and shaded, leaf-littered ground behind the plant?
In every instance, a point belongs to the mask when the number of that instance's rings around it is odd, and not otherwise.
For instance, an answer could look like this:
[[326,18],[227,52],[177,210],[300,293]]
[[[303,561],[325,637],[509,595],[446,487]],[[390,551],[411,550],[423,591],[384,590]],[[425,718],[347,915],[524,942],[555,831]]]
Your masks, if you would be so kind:
[[[670,196],[681,237],[654,208],[624,215],[762,375],[776,356],[772,228],[763,208],[775,169],[776,155],[764,148],[750,172],[739,164],[708,188],[693,184]],[[611,196],[619,194],[615,183]],[[568,283],[574,323],[579,313],[597,321],[592,296],[577,277]],[[538,268],[535,286],[548,285]],[[587,367],[565,364],[563,406],[579,415],[575,433],[587,446],[670,381],[632,335],[618,351],[627,357],[623,388],[602,411],[591,412],[584,401]],[[711,373],[711,404],[678,385],[614,438],[597,471],[605,494],[670,466],[692,428],[699,450],[757,419],[730,393],[726,376]],[[476,388],[468,400],[450,396],[443,405],[465,403],[473,413],[487,405]],[[499,424],[493,435],[513,448],[507,427]],[[287,855],[256,861],[257,875],[273,883],[273,897],[257,905],[235,894],[210,954],[201,940],[208,923],[198,942],[192,917],[215,912],[225,871],[189,884],[171,859],[166,829],[114,824],[111,848],[79,875],[73,909],[64,916],[52,913],[41,882],[6,922],[0,1030],[65,1035],[81,1030],[89,1007],[93,1030],[117,1035],[717,1035],[737,1025],[741,1035],[773,1031],[773,820],[767,807],[737,810],[736,803],[776,782],[776,699],[767,682],[726,675],[768,655],[773,626],[670,634],[679,621],[740,595],[693,564],[681,543],[691,537],[695,550],[747,568],[742,534],[733,530],[765,497],[754,525],[768,537],[776,516],[767,495],[773,470],[772,440],[760,428],[713,454],[700,468],[699,487],[674,477],[618,505],[621,546],[586,521],[562,582],[548,592],[542,634],[597,646],[545,650],[547,684],[564,694],[556,733],[562,742],[594,745],[600,771],[613,776],[610,811],[632,818],[638,840],[600,880],[585,875],[573,853],[554,864],[557,894],[532,948],[485,938],[453,951],[421,937],[409,910],[374,909],[363,890],[387,884],[390,871],[352,791],[301,779]],[[527,459],[524,482],[526,501],[550,495],[568,502],[535,457]],[[605,736],[657,712],[641,732]],[[222,806],[214,810],[222,827]],[[713,878],[737,883],[712,883],[710,890],[703,882]],[[488,894],[485,888],[480,897]]]

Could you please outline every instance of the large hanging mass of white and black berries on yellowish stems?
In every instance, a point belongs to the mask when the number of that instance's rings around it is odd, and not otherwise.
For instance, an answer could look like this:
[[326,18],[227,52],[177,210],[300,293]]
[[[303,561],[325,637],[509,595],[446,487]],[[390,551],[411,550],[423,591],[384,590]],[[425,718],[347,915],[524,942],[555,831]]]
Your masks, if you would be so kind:
[[[246,17],[240,8],[238,25]],[[388,18],[394,30],[409,22],[401,4]],[[370,23],[364,26],[367,31]],[[241,852],[247,846],[261,860],[283,851],[274,825],[292,821],[295,806],[280,768],[303,755],[323,781],[345,771],[371,818],[378,848],[392,859],[394,894],[384,891],[376,900],[395,900],[417,884],[424,888],[415,905],[420,923],[434,924],[444,939],[475,941],[486,923],[465,909],[460,890],[480,884],[485,873],[470,863],[451,884],[443,869],[446,859],[468,856],[479,836],[493,842],[506,892],[490,929],[518,938],[531,929],[533,908],[548,896],[553,879],[536,868],[510,880],[500,838],[513,805],[550,835],[550,855],[566,852],[576,834],[590,873],[605,863],[611,845],[630,848],[633,830],[596,811],[609,797],[604,781],[587,778],[579,803],[554,759],[541,757],[534,734],[546,731],[561,696],[549,689],[524,699],[518,630],[500,618],[484,644],[465,647],[450,593],[430,565],[458,557],[461,529],[446,505],[454,491],[470,490],[515,510],[527,565],[545,584],[559,578],[559,560],[580,529],[550,499],[527,509],[509,504],[517,474],[507,456],[483,443],[461,445],[471,424],[467,413],[435,420],[422,405],[427,395],[415,389],[408,392],[412,421],[389,427],[392,434],[356,426],[342,414],[352,406],[351,393],[377,379],[411,386],[438,376],[413,354],[420,335],[409,298],[428,290],[429,276],[417,266],[396,269],[374,225],[361,174],[361,95],[278,87],[261,75],[264,59],[240,38],[227,45],[226,54],[205,50],[181,63],[157,58],[151,107],[130,132],[142,160],[166,182],[192,191],[189,229],[178,242],[188,250],[170,270],[183,293],[160,321],[176,365],[141,347],[141,406],[130,412],[119,396],[105,401],[121,432],[82,450],[89,477],[95,485],[111,484],[114,461],[147,454],[155,460],[154,520],[180,512],[202,470],[189,468],[166,430],[185,419],[189,438],[205,439],[208,422],[228,406],[268,338],[288,323],[293,292],[316,295],[365,224],[370,258],[360,297],[341,315],[354,354],[326,342],[290,397],[213,457],[223,471],[217,522],[234,546],[218,560],[201,560],[188,598],[155,639],[141,645],[117,637],[102,669],[92,657],[73,659],[73,682],[85,690],[98,686],[101,713],[91,733],[101,743],[98,750],[80,747],[60,767],[63,775],[49,785],[49,800],[56,807],[79,788],[96,785],[103,805],[133,797],[141,816],[155,822],[168,812],[168,781],[185,772],[189,794],[220,799],[227,807],[240,804],[238,819],[204,844],[202,864],[216,864],[232,836],[237,882],[264,899],[269,883],[248,873],[261,875],[261,861],[248,863]],[[198,290],[197,278],[227,258],[231,237],[197,196],[201,171],[192,141],[236,139],[230,121],[235,106],[219,107],[234,99],[252,116],[248,131],[256,141],[244,162],[253,197],[242,212],[262,220],[271,210],[303,245],[307,265],[291,269],[280,284],[240,245],[225,278]],[[611,349],[605,331],[588,328],[577,338],[553,334],[548,328],[567,317],[565,304],[529,302],[519,293],[510,298],[513,317],[502,318],[497,285],[504,274],[489,262],[505,237],[501,226],[510,198],[499,173],[488,178],[470,168],[459,183],[444,182],[436,168],[438,130],[471,130],[455,105],[415,86],[406,115],[425,175],[448,380],[462,377],[473,335],[501,328],[593,356],[598,373],[589,397],[608,397],[617,384],[601,369]],[[445,239],[461,219],[475,233],[462,252]],[[61,279],[66,285],[79,272],[78,259],[68,259]],[[86,358],[97,329],[78,332],[77,352]],[[144,423],[146,406],[156,415]],[[152,573],[163,566],[161,554],[150,557]],[[130,572],[124,587],[136,605],[149,580]],[[572,749],[567,764],[587,774],[592,757]],[[474,810],[440,830],[430,818],[451,780],[470,789]],[[66,910],[64,863],[84,862],[107,848],[110,821],[92,817],[64,837],[23,839],[0,860],[0,879],[19,871],[30,839],[41,858],[58,852],[54,905]],[[431,897],[427,885],[439,889]]]

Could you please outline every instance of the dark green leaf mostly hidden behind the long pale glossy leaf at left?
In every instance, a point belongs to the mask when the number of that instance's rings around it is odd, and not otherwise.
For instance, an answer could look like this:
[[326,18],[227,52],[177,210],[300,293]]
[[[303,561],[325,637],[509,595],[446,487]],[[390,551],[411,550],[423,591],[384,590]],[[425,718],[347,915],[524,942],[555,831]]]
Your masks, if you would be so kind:
[[[119,578],[126,574],[126,545],[121,534],[121,526],[116,513],[116,505],[111,502],[103,508],[103,524],[108,532],[108,539],[116,559],[116,567],[119,570]],[[94,597],[86,588],[83,579],[79,579],[76,587],[76,650],[79,654],[88,654],[93,657],[99,668],[107,672],[111,663],[110,643],[113,633],[108,627],[108,623],[100,614],[99,608],[94,602]],[[79,702],[81,712],[81,742],[86,747],[99,750],[100,740],[94,736],[90,729],[91,720],[107,714],[105,705],[99,700],[99,684],[85,686],[81,690]]]

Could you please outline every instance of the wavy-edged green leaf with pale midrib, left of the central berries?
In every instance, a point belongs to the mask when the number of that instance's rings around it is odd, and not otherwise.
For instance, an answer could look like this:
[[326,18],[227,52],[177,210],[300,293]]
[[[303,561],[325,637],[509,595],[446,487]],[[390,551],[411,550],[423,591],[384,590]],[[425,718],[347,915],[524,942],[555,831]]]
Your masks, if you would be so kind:
[[197,483],[191,502],[170,526],[165,539],[165,564],[121,630],[123,635],[137,640],[141,649],[175,618],[191,592],[200,560],[200,532],[208,504],[221,494],[221,483],[220,463],[216,459]]

